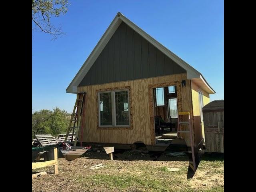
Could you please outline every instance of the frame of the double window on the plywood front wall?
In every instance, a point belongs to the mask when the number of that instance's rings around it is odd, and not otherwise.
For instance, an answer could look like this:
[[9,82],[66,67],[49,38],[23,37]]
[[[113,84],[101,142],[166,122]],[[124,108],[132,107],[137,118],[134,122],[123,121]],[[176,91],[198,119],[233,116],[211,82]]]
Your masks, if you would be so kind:
[[[116,125],[116,92],[122,92],[127,91],[127,98],[128,98],[128,119],[129,124],[128,125]],[[111,93],[111,99],[112,99],[112,125],[101,125],[100,124],[100,94],[101,93]],[[98,128],[131,128],[131,111],[130,111],[130,89],[113,89],[113,90],[107,90],[107,91],[98,91]]]

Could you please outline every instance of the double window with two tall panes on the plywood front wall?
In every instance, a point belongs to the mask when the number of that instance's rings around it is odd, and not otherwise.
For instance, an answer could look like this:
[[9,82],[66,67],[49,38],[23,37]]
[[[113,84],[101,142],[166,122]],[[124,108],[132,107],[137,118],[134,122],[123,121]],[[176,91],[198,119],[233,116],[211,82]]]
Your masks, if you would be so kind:
[[114,90],[98,93],[99,126],[130,126],[128,90]]

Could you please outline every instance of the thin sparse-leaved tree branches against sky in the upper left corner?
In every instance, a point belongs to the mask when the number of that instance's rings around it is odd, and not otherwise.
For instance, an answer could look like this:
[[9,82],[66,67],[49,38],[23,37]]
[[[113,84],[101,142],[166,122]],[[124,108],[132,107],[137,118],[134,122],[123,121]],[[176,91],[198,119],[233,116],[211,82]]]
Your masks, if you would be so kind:
[[65,14],[68,9],[68,0],[32,0],[32,22],[35,28],[52,35],[53,39],[62,36],[61,26],[56,28],[50,22],[51,16],[58,17]]

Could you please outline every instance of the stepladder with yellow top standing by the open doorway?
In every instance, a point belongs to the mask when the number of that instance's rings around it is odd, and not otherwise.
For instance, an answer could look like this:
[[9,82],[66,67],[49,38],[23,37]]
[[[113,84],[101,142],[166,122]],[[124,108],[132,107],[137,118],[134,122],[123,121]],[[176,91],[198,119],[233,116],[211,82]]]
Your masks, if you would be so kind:
[[[178,129],[177,138],[184,138],[188,146],[189,167],[196,172],[195,144],[194,131],[192,129],[192,121],[190,112],[178,113]],[[190,150],[191,148],[191,150]]]

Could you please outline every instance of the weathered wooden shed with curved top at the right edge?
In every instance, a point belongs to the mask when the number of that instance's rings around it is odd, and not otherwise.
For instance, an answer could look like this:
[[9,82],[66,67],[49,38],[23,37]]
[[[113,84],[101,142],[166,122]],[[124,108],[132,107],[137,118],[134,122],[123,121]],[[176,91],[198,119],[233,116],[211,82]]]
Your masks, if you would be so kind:
[[204,106],[203,117],[206,151],[224,153],[224,100]]

